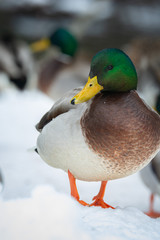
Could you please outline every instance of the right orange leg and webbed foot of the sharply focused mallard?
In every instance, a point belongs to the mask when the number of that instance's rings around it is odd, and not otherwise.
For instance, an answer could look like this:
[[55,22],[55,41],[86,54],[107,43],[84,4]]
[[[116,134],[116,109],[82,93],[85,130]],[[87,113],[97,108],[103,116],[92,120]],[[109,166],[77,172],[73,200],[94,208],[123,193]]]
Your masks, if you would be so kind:
[[114,207],[108,205],[103,200],[106,185],[107,185],[107,181],[102,181],[99,193],[93,198],[93,200],[95,200],[95,201],[92,204],[90,204],[89,206],[100,206],[102,208],[112,208],[112,209],[114,209]]

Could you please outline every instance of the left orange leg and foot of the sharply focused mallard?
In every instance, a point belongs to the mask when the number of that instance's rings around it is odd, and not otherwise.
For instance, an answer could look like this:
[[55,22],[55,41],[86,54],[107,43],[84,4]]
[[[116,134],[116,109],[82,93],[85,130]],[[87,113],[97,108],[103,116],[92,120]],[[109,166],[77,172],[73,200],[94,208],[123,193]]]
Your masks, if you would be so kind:
[[86,202],[79,200],[79,194],[76,186],[76,179],[69,170],[68,170],[68,178],[70,182],[71,196],[74,197],[83,206],[89,206],[89,204],[87,204]]

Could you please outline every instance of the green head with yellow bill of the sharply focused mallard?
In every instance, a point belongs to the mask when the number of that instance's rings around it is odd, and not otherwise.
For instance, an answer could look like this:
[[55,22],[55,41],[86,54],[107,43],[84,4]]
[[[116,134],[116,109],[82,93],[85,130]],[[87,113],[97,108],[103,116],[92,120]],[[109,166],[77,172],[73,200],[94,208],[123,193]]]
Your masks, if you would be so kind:
[[130,58],[120,49],[108,48],[93,57],[88,82],[71,103],[85,102],[99,91],[127,92],[136,88],[137,73]]

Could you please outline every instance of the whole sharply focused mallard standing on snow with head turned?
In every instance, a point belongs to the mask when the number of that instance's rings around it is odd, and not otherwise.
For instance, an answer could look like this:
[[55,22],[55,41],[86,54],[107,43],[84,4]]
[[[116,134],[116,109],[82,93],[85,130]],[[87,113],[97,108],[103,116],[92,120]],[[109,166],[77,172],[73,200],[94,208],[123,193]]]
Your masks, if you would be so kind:
[[85,87],[74,89],[42,117],[41,158],[68,173],[71,196],[82,205],[76,179],[101,181],[89,206],[112,206],[103,197],[108,180],[137,172],[160,149],[160,117],[136,92],[137,74],[121,50],[98,52]]

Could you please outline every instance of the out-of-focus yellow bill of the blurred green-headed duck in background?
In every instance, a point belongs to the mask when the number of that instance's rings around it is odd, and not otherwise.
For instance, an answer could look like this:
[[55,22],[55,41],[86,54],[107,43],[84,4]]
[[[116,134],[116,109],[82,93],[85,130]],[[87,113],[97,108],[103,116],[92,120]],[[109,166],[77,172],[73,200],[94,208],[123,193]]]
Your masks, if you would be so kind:
[[34,42],[30,45],[33,52],[40,52],[46,50],[51,45],[51,42],[48,38],[43,38],[37,42]]

